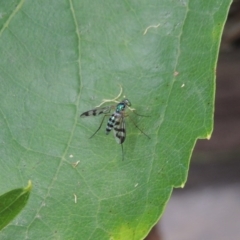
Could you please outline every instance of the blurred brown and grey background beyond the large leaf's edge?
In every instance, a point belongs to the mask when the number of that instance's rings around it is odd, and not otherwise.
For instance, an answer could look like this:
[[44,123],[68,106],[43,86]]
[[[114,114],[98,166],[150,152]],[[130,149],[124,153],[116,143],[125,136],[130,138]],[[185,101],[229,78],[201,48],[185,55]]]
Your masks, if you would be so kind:
[[147,240],[240,239],[240,0],[225,25],[214,131],[198,140],[184,189],[175,189]]

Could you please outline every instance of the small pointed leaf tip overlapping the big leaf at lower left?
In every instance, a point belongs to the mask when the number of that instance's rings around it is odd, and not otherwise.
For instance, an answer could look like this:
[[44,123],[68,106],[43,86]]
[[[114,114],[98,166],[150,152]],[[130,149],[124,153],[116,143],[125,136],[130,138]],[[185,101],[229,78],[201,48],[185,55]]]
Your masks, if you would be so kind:
[[27,204],[31,181],[26,188],[17,188],[0,196],[0,230],[9,224]]

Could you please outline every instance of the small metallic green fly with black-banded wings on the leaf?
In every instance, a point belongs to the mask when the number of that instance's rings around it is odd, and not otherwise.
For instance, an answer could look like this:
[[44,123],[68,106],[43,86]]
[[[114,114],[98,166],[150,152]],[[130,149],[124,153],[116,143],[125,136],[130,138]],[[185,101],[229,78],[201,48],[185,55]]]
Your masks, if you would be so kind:
[[[90,138],[92,138],[100,130],[105,117],[110,116],[110,118],[108,119],[108,122],[107,122],[106,134],[108,135],[111,132],[111,130],[113,129],[113,134],[114,134],[116,142],[118,144],[121,144],[123,159],[124,159],[124,154],[123,154],[123,145],[122,144],[124,143],[124,141],[126,139],[125,117],[128,116],[126,114],[125,110],[127,107],[130,108],[130,106],[131,106],[131,102],[128,99],[123,99],[117,105],[112,105],[112,106],[107,106],[107,107],[97,107],[95,109],[86,111],[80,115],[80,117],[89,117],[89,116],[98,116],[100,114],[104,114],[104,117],[103,117],[98,129],[93,133],[93,135]],[[115,108],[114,113],[110,114],[110,111],[114,108]],[[141,116],[141,115],[139,115],[139,116]],[[146,135],[135,123],[134,123],[134,125],[146,137],[149,138],[149,136]]]

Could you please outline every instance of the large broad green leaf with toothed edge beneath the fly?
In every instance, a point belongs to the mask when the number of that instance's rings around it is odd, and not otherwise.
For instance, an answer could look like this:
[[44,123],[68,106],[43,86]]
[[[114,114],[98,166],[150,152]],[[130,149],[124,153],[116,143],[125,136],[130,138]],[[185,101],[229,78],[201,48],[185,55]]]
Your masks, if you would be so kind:
[[[0,3],[0,191],[35,186],[1,239],[146,236],[211,135],[230,2]],[[79,118],[119,85],[151,138],[126,118],[124,161],[106,121],[89,139],[101,117]]]

